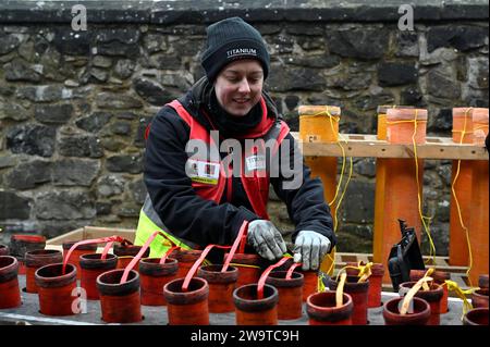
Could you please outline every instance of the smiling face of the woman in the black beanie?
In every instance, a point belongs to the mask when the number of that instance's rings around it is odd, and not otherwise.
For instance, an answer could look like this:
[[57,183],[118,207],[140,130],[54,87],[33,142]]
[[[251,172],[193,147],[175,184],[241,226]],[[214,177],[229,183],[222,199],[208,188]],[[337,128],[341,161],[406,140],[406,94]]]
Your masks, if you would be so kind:
[[220,106],[233,116],[246,115],[262,95],[264,70],[255,59],[228,64],[215,82]]

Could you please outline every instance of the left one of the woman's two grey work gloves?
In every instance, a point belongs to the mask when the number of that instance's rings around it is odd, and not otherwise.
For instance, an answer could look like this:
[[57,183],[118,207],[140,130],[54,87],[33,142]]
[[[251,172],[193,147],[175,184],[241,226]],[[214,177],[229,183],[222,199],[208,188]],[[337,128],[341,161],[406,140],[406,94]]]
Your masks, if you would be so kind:
[[262,258],[270,261],[282,258],[286,251],[279,230],[269,221],[256,220],[248,224],[247,243]]

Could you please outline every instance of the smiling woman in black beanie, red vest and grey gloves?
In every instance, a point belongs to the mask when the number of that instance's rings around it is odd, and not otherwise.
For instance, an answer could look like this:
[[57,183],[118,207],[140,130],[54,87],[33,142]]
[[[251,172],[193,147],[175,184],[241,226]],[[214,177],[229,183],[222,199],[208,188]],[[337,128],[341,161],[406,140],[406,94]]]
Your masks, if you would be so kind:
[[[296,225],[294,261],[317,270],[335,244],[332,219],[321,182],[298,162],[294,138],[264,91],[269,53],[262,37],[238,17],[215,23],[207,28],[201,64],[206,76],[151,122],[148,196],[135,244],[163,230],[192,248],[232,245],[248,221],[248,250],[274,261],[286,247],[267,214],[271,184]],[[154,241],[151,257],[167,248]]]

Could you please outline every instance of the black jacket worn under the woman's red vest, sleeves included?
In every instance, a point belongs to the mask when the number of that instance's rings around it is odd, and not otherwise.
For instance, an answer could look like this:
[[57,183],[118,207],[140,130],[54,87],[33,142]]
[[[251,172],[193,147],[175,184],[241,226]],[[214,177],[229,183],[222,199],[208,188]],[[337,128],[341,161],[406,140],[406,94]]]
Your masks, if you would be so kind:
[[[203,114],[209,89],[207,79],[203,78],[179,101],[199,123],[212,129]],[[264,97],[268,114],[278,117],[270,97],[267,94],[264,94]],[[163,224],[175,236],[203,247],[209,244],[231,245],[244,220],[253,221],[259,218],[253,212],[240,177],[233,177],[232,201],[224,201],[226,191],[220,205],[203,199],[194,191],[192,181],[185,174],[185,162],[188,158],[185,146],[188,138],[189,126],[170,107],[163,107],[151,121],[144,171],[144,181],[151,202]],[[286,138],[294,140],[291,134],[287,134]],[[330,209],[323,199],[321,182],[310,177],[310,171],[304,162],[299,166],[299,170],[303,170],[304,183],[298,189],[285,190],[282,187],[284,178],[270,178],[296,225],[293,240],[297,232],[309,230],[327,236],[333,247],[335,235],[332,232]]]

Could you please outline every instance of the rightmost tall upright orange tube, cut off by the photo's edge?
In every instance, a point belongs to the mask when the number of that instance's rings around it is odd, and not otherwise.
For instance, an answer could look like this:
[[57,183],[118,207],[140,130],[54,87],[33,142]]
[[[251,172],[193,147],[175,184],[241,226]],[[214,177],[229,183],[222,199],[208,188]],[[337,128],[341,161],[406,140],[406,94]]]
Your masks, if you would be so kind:
[[[485,137],[488,134],[488,109],[473,110],[474,144],[485,146]],[[488,160],[475,160],[473,162],[471,177],[471,216],[469,219],[469,241],[471,245],[473,267],[469,280],[476,286],[480,274],[488,274],[488,248],[489,248],[489,223],[488,223]]]

